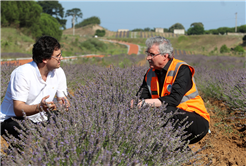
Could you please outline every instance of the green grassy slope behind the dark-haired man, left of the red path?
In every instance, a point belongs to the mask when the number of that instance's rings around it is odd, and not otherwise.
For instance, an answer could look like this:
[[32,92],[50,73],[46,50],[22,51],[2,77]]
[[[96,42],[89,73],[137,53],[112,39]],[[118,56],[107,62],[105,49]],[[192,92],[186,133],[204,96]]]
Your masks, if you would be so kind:
[[[23,53],[31,57],[32,45],[35,40],[29,36],[21,33],[20,30],[15,28],[0,28],[0,58],[9,59],[13,58],[7,53]],[[80,36],[80,35],[63,35],[60,41],[63,55],[64,56],[74,56],[74,55],[84,55],[84,54],[103,54],[103,55],[114,55],[127,53],[127,47],[120,44],[109,43],[107,44],[107,50],[104,52],[93,51],[81,49],[80,43],[86,41],[91,37]],[[25,56],[26,57],[26,56]]]

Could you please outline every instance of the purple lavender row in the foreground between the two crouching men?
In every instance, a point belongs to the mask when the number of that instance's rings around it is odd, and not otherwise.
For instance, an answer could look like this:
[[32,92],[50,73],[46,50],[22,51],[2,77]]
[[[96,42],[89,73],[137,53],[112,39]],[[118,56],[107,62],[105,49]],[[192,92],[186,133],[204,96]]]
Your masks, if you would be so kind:
[[[64,64],[71,108],[61,109],[56,123],[35,127],[26,120],[22,141],[7,139],[23,147],[13,149],[3,165],[182,165],[197,158],[186,150],[184,128],[173,131],[170,114],[149,107],[130,108],[147,67],[100,67]],[[79,80],[78,80],[79,77]],[[77,82],[81,81],[81,83]],[[137,100],[137,97],[135,97]],[[182,152],[179,147],[184,147]]]

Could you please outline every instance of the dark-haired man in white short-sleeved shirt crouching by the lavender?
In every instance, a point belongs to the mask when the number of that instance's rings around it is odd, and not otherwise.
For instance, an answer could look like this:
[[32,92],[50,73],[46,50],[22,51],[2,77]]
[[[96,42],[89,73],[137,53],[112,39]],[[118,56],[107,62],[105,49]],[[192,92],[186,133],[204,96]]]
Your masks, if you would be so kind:
[[16,68],[10,78],[5,98],[0,106],[0,134],[5,130],[18,138],[12,120],[27,118],[37,123],[47,121],[46,111],[56,109],[55,95],[60,104],[69,106],[66,76],[60,67],[63,59],[59,42],[50,36],[43,36],[33,45],[33,61]]

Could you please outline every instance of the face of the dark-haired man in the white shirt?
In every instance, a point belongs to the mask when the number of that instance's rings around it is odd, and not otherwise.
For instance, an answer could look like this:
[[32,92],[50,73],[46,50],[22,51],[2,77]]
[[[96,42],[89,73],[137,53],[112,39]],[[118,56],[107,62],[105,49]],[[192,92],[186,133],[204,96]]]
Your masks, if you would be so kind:
[[61,50],[54,50],[51,58],[48,60],[49,68],[51,68],[51,70],[59,68],[61,65],[61,60],[63,60]]

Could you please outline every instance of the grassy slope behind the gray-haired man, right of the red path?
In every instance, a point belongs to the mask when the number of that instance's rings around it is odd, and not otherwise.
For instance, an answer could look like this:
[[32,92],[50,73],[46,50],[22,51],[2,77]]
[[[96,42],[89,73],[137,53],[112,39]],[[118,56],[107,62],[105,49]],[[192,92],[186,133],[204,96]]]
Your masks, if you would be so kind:
[[[112,38],[110,38],[112,39]],[[124,41],[138,44],[145,47],[146,38],[113,38],[114,40]],[[195,54],[203,55],[231,55],[243,56],[233,52],[220,54],[219,49],[223,44],[227,44],[229,48],[234,48],[241,45],[242,36],[225,36],[225,35],[193,35],[179,37],[167,37],[172,43],[173,48],[177,50],[191,51]],[[217,48],[217,49],[216,49]]]

